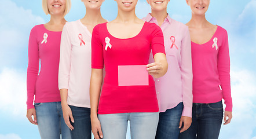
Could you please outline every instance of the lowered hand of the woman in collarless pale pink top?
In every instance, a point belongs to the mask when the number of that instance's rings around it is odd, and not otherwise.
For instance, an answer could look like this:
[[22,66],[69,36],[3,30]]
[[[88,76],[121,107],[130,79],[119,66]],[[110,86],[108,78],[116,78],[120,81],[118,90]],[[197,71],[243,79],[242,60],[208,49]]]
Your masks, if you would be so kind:
[[63,118],[65,120],[66,125],[68,126],[68,128],[70,128],[71,131],[74,130],[74,127],[70,123],[70,119],[72,123],[75,122],[72,115],[71,108],[68,106],[68,104],[61,105],[61,107],[63,112]]

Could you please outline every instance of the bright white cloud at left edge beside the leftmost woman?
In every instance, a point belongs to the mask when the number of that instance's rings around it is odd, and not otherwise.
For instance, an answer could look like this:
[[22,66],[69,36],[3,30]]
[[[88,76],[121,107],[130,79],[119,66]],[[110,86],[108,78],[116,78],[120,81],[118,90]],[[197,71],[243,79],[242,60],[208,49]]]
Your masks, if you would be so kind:
[[2,114],[25,118],[27,109],[25,76],[24,72],[3,68],[0,73],[0,111]]

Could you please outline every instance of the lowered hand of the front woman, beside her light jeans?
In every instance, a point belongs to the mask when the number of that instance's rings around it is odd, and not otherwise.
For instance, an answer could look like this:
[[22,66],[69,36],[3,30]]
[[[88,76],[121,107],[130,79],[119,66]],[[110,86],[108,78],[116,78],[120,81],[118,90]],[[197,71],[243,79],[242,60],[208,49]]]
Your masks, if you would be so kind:
[[103,133],[100,126],[100,120],[98,118],[91,118],[92,132],[95,139],[103,138]]

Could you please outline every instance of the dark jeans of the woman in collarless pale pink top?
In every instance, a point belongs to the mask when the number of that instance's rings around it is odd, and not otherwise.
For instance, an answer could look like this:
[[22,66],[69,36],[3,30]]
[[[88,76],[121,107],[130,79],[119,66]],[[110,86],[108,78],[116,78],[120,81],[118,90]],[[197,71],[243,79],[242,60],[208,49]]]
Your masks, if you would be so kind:
[[90,108],[75,107],[69,105],[72,111],[74,123],[70,122],[74,130],[70,130],[72,139],[91,139],[92,125],[90,119]]

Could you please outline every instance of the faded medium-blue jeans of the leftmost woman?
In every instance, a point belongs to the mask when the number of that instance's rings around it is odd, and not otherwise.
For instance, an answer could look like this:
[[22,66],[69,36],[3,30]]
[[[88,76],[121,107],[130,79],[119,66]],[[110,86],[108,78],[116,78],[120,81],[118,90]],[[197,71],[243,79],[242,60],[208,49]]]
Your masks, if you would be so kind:
[[60,102],[35,103],[38,129],[42,139],[71,139],[65,124]]

